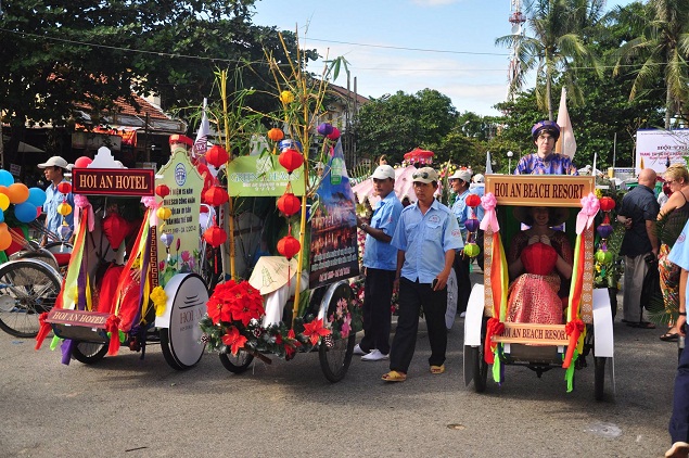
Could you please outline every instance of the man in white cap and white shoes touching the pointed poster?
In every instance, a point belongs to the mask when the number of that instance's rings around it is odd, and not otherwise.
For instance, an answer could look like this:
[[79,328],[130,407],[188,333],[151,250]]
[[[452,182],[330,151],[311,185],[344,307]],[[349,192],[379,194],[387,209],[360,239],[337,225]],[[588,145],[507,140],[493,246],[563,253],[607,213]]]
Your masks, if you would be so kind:
[[363,249],[363,339],[354,353],[361,360],[387,359],[390,354],[390,303],[397,268],[397,249],[390,244],[401,214],[401,203],[395,194],[395,169],[380,165],[371,176],[373,191],[381,201],[373,208],[371,224],[357,217],[357,226],[366,232]]

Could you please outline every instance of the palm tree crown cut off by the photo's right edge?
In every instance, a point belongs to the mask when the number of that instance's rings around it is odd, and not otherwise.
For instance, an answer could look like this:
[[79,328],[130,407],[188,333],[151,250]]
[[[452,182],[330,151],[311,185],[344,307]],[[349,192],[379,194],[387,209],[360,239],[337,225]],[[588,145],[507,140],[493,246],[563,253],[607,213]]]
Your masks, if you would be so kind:
[[660,79],[665,86],[665,128],[674,115],[685,116],[689,102],[689,2],[686,0],[649,0],[645,9],[641,36],[620,49],[615,75],[625,64],[641,60],[635,71],[629,100],[645,90],[656,87]]

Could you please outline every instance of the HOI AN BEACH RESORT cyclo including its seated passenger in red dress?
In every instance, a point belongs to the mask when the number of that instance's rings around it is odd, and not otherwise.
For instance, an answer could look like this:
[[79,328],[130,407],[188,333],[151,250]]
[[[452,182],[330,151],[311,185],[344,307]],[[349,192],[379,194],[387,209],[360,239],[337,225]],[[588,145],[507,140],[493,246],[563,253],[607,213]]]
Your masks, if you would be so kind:
[[[610,297],[594,289],[595,256],[609,255],[614,201],[596,198],[594,177],[523,175],[486,176],[481,201],[484,284],[474,287],[467,309],[465,384],[483,392],[488,373],[508,383],[506,367],[521,365],[538,377],[564,369],[570,392],[575,368],[592,352],[596,398],[604,395],[605,366],[614,393]],[[604,217],[595,228],[599,211]],[[539,225],[548,237],[538,236]],[[596,254],[595,232],[603,239]]]

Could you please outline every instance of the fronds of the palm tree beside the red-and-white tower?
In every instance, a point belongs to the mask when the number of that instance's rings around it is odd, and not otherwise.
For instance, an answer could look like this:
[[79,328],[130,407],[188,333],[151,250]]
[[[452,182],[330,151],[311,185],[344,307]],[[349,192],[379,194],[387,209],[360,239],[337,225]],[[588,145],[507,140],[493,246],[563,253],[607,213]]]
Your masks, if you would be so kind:
[[507,35],[496,44],[515,50],[520,71],[511,81],[510,92],[522,89],[526,74],[536,66],[536,101],[553,119],[552,86],[560,76],[575,103],[583,94],[575,85],[576,64],[592,67],[599,76],[602,69],[586,43],[603,17],[604,0],[533,0],[526,5],[528,28],[525,34]]

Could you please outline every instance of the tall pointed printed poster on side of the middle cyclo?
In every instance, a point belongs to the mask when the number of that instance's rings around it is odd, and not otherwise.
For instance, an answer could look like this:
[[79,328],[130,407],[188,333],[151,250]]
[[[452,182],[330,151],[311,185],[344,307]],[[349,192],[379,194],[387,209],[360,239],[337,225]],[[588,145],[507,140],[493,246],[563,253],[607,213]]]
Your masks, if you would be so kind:
[[310,289],[359,275],[354,191],[340,141],[326,174],[311,217]]

